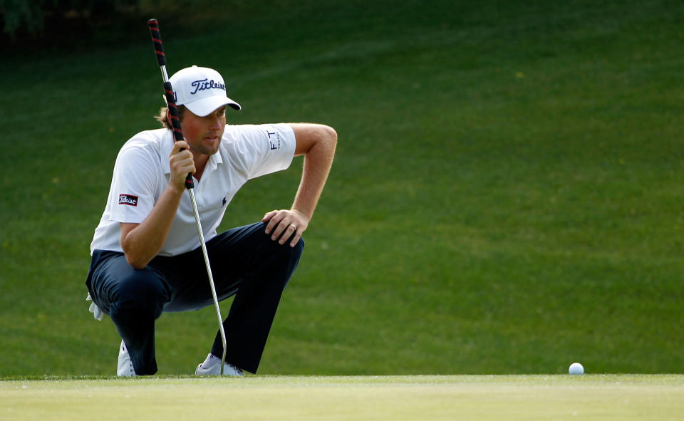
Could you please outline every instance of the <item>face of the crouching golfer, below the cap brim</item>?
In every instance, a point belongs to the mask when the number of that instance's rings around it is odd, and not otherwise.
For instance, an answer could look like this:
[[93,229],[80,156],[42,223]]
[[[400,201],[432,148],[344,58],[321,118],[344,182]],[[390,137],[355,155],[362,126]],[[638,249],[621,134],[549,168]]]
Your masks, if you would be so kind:
[[213,155],[219,150],[226,128],[226,107],[224,105],[217,108],[204,117],[199,117],[186,108],[180,126],[192,152]]

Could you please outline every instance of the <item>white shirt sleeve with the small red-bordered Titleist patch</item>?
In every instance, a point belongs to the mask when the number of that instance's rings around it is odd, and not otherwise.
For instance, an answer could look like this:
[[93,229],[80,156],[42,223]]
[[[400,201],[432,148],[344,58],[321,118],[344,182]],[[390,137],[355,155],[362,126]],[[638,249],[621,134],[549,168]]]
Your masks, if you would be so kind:
[[110,220],[140,224],[155,206],[160,162],[145,147],[127,147],[114,165]]

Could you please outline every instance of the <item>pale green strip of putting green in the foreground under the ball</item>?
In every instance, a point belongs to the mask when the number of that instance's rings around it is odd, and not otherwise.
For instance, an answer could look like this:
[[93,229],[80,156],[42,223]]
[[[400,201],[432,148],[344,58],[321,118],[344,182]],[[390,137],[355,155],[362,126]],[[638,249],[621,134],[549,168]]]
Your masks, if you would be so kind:
[[8,380],[1,420],[675,420],[684,375]]

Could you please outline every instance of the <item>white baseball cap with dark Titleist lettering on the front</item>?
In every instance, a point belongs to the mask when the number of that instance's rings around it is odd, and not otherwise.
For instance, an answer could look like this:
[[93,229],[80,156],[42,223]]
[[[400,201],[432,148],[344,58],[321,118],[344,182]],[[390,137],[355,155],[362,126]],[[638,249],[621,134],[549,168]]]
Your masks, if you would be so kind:
[[226,84],[212,68],[192,66],[174,73],[169,79],[176,105],[185,105],[193,114],[204,117],[223,105],[235,110],[240,105],[226,96]]

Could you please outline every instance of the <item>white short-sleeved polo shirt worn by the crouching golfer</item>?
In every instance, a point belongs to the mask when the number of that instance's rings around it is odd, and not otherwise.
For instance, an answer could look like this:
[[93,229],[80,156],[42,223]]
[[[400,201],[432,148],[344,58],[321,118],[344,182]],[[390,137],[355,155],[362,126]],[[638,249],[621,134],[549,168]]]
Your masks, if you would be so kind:
[[[231,199],[255,177],[289,167],[296,141],[287,124],[227,125],[219,151],[209,157],[202,180],[195,179],[195,198],[204,239],[216,235]],[[170,178],[171,130],[140,132],[119,151],[109,198],[95,229],[93,250],[122,251],[120,222],[142,222],[157,203]],[[199,247],[190,193],[183,193],[160,256],[175,256]]]

